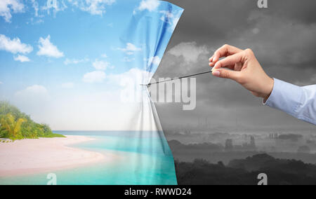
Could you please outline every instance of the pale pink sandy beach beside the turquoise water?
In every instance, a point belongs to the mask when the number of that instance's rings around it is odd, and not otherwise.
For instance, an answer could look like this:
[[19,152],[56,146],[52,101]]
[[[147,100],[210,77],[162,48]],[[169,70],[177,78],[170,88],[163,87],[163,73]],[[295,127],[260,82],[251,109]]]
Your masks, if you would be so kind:
[[67,136],[0,143],[0,177],[64,170],[114,158],[112,154],[104,156],[70,146],[91,140],[84,136]]

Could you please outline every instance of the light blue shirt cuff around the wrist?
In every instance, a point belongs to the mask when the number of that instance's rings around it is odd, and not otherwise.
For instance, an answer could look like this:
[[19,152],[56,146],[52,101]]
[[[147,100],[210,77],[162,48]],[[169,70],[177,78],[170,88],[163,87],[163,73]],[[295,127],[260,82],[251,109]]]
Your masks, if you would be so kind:
[[274,78],[274,80],[275,85],[272,93],[267,102],[263,104],[284,111],[291,116],[296,116],[296,109],[301,103],[303,94],[302,88],[291,83],[280,81],[277,78]]

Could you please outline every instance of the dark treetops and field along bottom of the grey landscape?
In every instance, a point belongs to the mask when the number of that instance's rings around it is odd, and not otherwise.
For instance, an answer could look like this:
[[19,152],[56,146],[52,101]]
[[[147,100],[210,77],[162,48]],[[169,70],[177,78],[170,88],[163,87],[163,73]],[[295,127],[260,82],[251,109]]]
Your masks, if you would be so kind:
[[268,175],[269,185],[316,184],[316,165],[267,154],[232,160],[228,165],[201,159],[191,163],[176,161],[176,173],[180,185],[256,185],[261,173]]

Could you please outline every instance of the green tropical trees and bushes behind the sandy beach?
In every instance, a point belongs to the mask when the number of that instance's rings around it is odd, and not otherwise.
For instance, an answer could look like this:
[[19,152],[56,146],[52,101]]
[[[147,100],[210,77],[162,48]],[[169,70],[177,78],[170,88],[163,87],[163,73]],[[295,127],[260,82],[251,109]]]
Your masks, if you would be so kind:
[[46,124],[35,123],[30,116],[10,103],[0,101],[0,138],[16,140],[39,137],[64,136],[53,133]]

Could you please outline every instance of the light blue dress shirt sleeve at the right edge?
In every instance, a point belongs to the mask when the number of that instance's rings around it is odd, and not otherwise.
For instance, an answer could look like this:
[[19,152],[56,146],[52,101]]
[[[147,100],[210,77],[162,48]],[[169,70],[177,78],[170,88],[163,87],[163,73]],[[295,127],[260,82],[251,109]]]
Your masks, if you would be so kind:
[[274,88],[265,105],[316,125],[316,85],[300,87],[275,78]]

